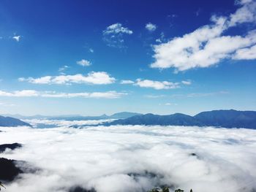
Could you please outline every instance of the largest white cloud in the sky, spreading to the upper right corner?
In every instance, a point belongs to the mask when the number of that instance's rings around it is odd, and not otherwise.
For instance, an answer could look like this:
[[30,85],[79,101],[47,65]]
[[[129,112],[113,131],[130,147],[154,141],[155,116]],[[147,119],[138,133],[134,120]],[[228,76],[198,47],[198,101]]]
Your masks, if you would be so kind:
[[248,31],[245,35],[223,35],[230,27],[256,21],[256,2],[239,2],[242,7],[230,16],[214,15],[211,17],[212,24],[197,28],[183,37],[175,37],[169,42],[154,45],[155,61],[151,67],[173,67],[178,72],[213,66],[223,59],[254,59],[254,54],[250,53],[250,50],[254,50],[256,45],[256,31]]

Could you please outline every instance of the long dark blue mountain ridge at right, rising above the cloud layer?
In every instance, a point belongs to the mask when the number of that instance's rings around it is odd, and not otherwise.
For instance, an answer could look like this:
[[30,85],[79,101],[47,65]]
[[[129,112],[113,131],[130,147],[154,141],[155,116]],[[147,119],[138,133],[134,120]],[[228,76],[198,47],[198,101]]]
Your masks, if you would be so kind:
[[131,118],[114,120],[111,125],[146,125],[146,126],[217,126],[224,128],[256,129],[255,111],[214,110],[200,112],[195,116],[176,113],[173,115],[135,115]]

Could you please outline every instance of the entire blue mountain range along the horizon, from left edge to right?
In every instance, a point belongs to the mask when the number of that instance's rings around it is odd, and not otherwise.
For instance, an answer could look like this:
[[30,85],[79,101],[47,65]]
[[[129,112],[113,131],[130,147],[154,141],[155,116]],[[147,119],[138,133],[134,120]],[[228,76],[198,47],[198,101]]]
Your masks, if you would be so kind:
[[[24,116],[23,116],[24,117]],[[42,118],[42,116],[40,116]],[[46,116],[43,116],[46,118]],[[146,126],[214,126],[225,128],[253,128],[256,129],[255,111],[214,110],[200,112],[195,116],[175,113],[173,115],[142,115],[136,112],[118,112],[113,115],[101,116],[59,116],[51,120],[102,120],[117,119],[101,125],[146,125]],[[0,126],[30,126],[17,118],[0,116]]]

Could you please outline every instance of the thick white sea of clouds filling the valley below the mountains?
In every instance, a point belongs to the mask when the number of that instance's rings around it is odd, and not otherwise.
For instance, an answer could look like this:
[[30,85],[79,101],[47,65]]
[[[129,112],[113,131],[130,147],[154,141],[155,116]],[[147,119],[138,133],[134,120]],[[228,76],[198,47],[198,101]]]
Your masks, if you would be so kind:
[[1,156],[38,169],[5,183],[8,192],[62,192],[78,185],[97,192],[142,192],[160,185],[186,192],[256,189],[256,130],[195,126],[0,130],[0,144],[23,144]]

